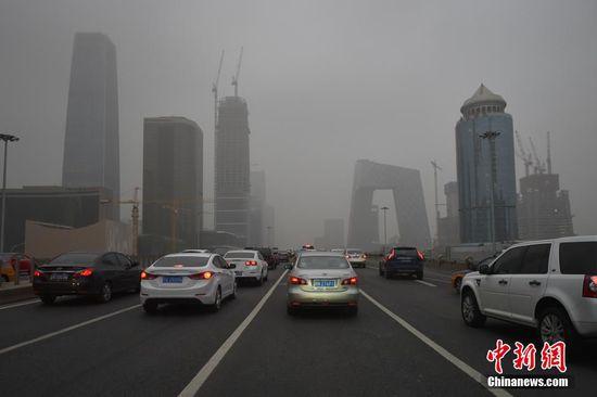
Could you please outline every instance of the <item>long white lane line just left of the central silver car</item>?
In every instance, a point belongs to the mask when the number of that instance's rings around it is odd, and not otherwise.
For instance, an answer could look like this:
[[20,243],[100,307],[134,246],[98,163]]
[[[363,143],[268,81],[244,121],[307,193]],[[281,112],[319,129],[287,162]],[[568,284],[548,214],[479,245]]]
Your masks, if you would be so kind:
[[249,326],[249,324],[251,324],[251,322],[257,316],[262,307],[264,307],[265,303],[267,302],[267,299],[269,299],[269,297],[274,293],[274,290],[276,290],[276,287],[278,286],[280,281],[284,278],[288,270],[284,270],[284,272],[280,276],[278,281],[276,281],[276,283],[271,285],[269,291],[264,295],[262,300],[259,300],[259,303],[253,308],[253,310],[249,313],[249,316],[246,316],[246,318],[240,323],[240,325],[237,326],[237,329],[232,332],[232,334],[228,336],[228,338],[217,349],[217,351],[214,353],[214,355],[209,358],[209,360],[205,363],[205,366],[203,366],[203,368],[198,372],[196,375],[194,375],[191,382],[182,389],[182,392],[180,392],[178,397],[191,397],[199,392],[201,386],[203,386],[207,377],[209,377],[212,372],[214,372],[214,370],[219,364],[221,359],[226,356],[228,350],[232,348],[232,346],[234,345],[237,340],[241,336],[243,331]]

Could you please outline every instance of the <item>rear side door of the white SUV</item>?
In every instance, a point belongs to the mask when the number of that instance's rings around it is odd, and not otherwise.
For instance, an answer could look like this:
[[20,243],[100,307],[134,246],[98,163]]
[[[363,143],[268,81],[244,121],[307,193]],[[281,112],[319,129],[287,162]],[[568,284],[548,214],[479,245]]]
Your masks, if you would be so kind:
[[522,257],[522,266],[510,278],[510,312],[512,320],[535,323],[535,305],[547,285],[547,269],[551,244],[529,245]]

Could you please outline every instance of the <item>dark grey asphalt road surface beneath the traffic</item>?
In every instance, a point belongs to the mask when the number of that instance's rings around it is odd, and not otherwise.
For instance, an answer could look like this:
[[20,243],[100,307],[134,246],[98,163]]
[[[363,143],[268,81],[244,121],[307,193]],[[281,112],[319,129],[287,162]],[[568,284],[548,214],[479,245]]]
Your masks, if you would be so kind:
[[[572,388],[487,390],[474,379],[494,373],[486,351],[497,338],[534,342],[533,330],[492,320],[467,328],[446,272],[428,269],[417,282],[357,271],[366,295],[356,317],[288,316],[281,269],[261,287],[241,287],[217,313],[165,307],[147,316],[136,295],[105,305],[65,298],[50,307],[0,306],[0,395],[595,394],[595,343],[569,361]],[[505,372],[520,374],[508,362]]]

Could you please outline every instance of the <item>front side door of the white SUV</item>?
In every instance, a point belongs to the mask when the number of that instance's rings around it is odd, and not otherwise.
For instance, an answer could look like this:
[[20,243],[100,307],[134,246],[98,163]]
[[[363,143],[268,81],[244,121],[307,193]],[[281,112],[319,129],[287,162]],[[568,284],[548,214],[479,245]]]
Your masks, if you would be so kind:
[[480,274],[478,291],[481,309],[490,316],[510,318],[508,291],[511,273],[520,268],[526,247],[513,247],[506,251],[490,267],[490,274]]

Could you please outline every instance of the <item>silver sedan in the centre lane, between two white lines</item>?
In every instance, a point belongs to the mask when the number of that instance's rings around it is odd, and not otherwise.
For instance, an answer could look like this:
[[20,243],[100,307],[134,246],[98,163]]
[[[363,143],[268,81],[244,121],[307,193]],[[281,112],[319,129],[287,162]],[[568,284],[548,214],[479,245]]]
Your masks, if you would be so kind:
[[343,307],[356,315],[357,284],[357,274],[344,255],[303,252],[288,279],[288,313],[307,307]]

